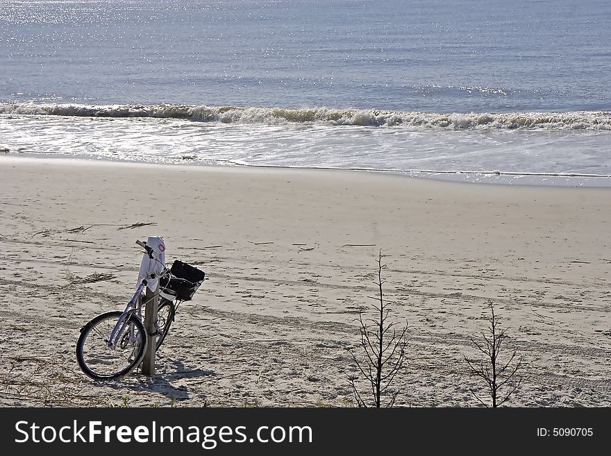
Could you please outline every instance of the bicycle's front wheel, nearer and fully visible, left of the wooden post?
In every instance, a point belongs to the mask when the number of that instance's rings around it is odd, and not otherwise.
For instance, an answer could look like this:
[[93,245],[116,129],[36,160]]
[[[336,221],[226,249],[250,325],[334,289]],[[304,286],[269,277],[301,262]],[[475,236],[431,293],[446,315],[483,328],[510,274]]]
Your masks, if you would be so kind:
[[133,325],[135,340],[133,343],[124,339],[115,348],[108,347],[106,339],[110,337],[123,312],[112,311],[99,314],[83,328],[76,342],[76,361],[81,370],[94,380],[115,380],[127,375],[142,362],[147,348],[147,333],[142,321],[135,316],[128,317],[128,324]]

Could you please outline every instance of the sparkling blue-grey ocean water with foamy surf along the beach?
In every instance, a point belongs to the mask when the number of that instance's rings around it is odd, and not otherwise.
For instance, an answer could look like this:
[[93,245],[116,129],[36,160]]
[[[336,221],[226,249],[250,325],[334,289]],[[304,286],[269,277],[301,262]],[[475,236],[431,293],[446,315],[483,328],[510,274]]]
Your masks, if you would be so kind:
[[0,151],[611,185],[608,0],[0,0]]

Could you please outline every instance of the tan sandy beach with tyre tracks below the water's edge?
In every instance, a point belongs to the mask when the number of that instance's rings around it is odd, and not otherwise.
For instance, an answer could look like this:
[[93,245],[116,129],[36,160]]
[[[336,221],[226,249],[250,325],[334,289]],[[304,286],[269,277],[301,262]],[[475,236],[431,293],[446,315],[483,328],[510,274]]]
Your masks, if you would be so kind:
[[[354,407],[380,250],[408,323],[396,405],[480,405],[464,356],[492,300],[522,360],[506,405],[611,406],[611,189],[10,156],[0,182],[4,407]],[[79,328],[123,309],[149,235],[208,280],[156,375],[94,382]]]

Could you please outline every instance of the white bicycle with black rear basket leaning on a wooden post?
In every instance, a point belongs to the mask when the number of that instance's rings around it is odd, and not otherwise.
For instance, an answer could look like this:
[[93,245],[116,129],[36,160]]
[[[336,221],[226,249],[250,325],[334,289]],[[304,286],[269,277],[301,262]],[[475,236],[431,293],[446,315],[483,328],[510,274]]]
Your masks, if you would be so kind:
[[[165,265],[165,244],[162,238],[149,237],[135,243],[144,248],[136,290],[121,312],[113,310],[95,316],[83,328],[76,342],[76,360],[81,370],[94,380],[115,380],[142,363],[147,349],[143,309],[147,301],[145,289],[158,291],[156,350],[163,344],[178,305],[190,301],[206,277],[206,273],[180,260],[171,268]],[[149,261],[147,261],[147,257]],[[158,281],[158,282],[157,282]],[[158,285],[158,286],[157,286]],[[152,296],[154,298],[155,296]]]

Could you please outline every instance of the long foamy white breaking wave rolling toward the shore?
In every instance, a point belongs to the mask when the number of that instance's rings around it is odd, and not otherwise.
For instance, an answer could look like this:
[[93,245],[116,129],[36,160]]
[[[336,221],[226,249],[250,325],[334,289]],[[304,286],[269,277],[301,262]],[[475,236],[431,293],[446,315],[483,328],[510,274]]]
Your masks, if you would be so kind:
[[80,105],[0,103],[0,114],[77,117],[151,117],[225,124],[328,124],[414,128],[611,130],[611,112],[435,113],[331,108],[256,108],[206,105]]

